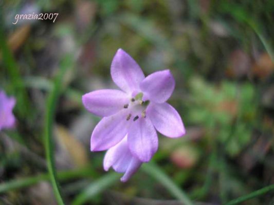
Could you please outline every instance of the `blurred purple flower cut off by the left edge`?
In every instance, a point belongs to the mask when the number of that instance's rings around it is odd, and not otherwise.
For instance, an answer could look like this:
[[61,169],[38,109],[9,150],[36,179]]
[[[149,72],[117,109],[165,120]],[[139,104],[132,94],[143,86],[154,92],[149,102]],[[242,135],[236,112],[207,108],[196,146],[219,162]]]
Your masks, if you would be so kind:
[[14,97],[8,97],[4,91],[0,90],[0,130],[14,127],[15,117],[12,109],[15,102]]

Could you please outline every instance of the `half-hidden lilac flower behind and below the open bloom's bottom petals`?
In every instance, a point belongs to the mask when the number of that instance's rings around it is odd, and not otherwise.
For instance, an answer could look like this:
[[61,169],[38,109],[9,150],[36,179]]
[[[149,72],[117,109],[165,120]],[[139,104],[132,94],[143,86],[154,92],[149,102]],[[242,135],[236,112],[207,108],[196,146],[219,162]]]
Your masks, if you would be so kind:
[[125,182],[139,169],[142,162],[134,157],[127,146],[127,136],[117,145],[107,150],[104,157],[104,170],[113,167],[116,172],[124,173],[121,181]]

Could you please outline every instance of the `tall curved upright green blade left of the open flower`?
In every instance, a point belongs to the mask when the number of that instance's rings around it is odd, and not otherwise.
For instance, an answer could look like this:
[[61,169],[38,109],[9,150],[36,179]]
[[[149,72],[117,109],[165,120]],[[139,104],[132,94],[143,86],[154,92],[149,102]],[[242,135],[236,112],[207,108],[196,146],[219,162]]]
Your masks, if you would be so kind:
[[[65,58],[67,59],[67,58]],[[64,63],[64,62],[62,62]],[[46,116],[45,116],[45,150],[46,150],[46,160],[48,166],[48,173],[50,181],[52,184],[54,195],[56,196],[57,202],[63,205],[63,199],[61,195],[61,190],[56,176],[56,168],[53,158],[53,140],[52,140],[52,126],[54,121],[54,113],[56,111],[57,100],[60,95],[62,78],[68,68],[66,65],[60,65],[60,72],[54,80],[54,85],[52,91],[48,95],[47,106],[46,106]]]

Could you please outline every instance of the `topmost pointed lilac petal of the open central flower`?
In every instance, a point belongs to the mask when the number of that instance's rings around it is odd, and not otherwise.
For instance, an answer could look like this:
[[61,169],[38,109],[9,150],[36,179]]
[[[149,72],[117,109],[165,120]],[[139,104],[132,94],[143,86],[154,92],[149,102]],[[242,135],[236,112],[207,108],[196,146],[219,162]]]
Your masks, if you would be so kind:
[[111,65],[114,83],[127,93],[139,90],[144,74],[136,61],[122,49],[118,49]]

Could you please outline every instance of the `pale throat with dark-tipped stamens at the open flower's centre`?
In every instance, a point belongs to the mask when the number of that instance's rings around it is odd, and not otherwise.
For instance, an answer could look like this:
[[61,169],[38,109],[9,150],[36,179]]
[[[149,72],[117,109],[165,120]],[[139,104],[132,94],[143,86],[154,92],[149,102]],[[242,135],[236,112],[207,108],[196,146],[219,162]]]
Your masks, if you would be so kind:
[[143,93],[138,93],[135,97],[130,99],[129,104],[125,104],[124,108],[129,109],[129,114],[126,116],[126,120],[130,120],[133,117],[133,121],[139,119],[139,117],[145,118],[145,110],[147,109],[150,101],[143,101],[142,100]]

